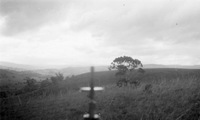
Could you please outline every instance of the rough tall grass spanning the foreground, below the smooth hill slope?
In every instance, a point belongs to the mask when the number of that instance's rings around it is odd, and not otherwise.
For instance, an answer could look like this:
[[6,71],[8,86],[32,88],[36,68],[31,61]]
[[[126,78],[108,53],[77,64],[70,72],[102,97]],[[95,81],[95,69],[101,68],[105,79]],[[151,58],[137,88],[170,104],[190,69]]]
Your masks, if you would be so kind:
[[[152,86],[150,92],[145,90],[147,85]],[[32,97],[22,105],[5,105],[2,108],[8,111],[1,112],[1,119],[81,120],[88,111],[89,100],[77,86],[65,94]],[[199,77],[160,77],[143,82],[138,88],[119,88],[115,83],[105,88],[96,93],[96,112],[102,120],[198,120],[200,117]]]

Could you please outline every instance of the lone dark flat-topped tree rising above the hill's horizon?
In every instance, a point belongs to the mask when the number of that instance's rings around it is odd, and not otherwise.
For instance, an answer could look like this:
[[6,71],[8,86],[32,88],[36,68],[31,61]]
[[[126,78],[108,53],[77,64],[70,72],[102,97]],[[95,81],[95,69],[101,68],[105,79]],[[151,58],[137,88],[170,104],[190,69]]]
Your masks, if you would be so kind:
[[135,84],[136,81],[130,81],[130,77],[132,77],[132,73],[135,69],[138,69],[138,72],[144,73],[142,69],[143,65],[140,60],[133,59],[129,56],[121,56],[115,58],[111,65],[109,66],[109,70],[117,70],[115,76],[119,77],[117,81],[117,86],[121,87],[123,84],[127,86],[128,83]]

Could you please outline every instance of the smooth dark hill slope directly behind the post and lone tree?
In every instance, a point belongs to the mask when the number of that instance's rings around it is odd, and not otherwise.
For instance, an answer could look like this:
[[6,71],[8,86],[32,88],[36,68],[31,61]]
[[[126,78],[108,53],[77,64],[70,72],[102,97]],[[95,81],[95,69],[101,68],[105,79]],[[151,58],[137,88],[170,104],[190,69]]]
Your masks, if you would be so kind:
[[[94,80],[96,86],[115,85],[118,80],[115,77],[116,71],[95,71]],[[75,86],[77,88],[88,86],[90,81],[90,73],[76,75],[67,82],[68,87]],[[145,73],[141,82],[149,83],[161,80],[172,79],[196,79],[200,77],[200,69],[175,69],[175,68],[149,68],[145,69]]]

